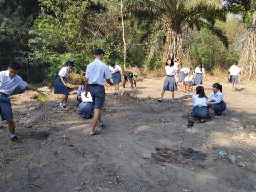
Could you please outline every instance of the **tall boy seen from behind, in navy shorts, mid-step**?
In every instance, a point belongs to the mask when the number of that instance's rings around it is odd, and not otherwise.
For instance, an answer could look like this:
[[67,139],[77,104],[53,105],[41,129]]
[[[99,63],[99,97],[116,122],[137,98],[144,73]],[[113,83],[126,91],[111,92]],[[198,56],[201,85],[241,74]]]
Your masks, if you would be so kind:
[[98,135],[99,131],[95,130],[95,127],[99,123],[99,126],[104,128],[104,123],[101,119],[100,111],[104,107],[105,101],[105,89],[104,85],[106,82],[113,86],[111,81],[111,73],[108,66],[102,62],[104,57],[104,51],[102,49],[97,49],[94,52],[94,61],[91,62],[86,68],[84,91],[87,97],[88,91],[90,91],[92,96],[92,101],[94,105],[94,117],[90,130],[90,135]]

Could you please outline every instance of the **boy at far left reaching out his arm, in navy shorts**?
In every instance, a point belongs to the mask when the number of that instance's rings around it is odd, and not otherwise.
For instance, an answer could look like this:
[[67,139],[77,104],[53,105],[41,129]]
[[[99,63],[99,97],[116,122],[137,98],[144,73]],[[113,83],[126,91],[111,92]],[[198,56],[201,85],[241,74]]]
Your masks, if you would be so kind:
[[27,84],[23,79],[17,75],[21,68],[21,64],[18,61],[11,61],[9,63],[8,70],[0,72],[0,116],[2,120],[6,120],[8,128],[11,133],[11,141],[21,142],[15,135],[15,123],[13,121],[12,106],[9,95],[19,87],[20,89],[29,89],[42,93],[43,91],[36,89],[35,87]]

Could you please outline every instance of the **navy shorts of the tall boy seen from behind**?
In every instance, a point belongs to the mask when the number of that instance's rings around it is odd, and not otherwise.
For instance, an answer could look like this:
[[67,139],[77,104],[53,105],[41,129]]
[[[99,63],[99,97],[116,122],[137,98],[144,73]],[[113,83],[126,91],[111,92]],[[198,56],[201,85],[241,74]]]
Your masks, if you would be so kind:
[[89,92],[95,109],[103,109],[105,101],[105,89],[102,85],[89,85]]

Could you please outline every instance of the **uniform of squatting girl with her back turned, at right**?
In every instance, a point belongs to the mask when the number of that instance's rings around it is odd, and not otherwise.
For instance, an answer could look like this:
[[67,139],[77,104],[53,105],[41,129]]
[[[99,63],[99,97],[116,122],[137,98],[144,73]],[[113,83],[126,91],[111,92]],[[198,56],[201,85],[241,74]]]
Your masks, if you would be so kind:
[[197,118],[206,118],[209,116],[209,109],[207,108],[207,98],[199,98],[199,94],[193,95],[193,110],[192,115]]

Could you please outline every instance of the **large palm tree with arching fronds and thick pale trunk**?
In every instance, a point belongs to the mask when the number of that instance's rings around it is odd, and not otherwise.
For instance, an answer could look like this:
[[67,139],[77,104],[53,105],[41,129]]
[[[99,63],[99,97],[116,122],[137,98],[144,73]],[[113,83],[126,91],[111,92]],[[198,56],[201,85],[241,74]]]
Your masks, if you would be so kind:
[[215,20],[226,21],[227,11],[221,0],[130,0],[126,17],[158,21],[165,32],[163,60],[182,55],[182,34],[188,28],[207,28],[228,47],[228,39],[215,27]]

